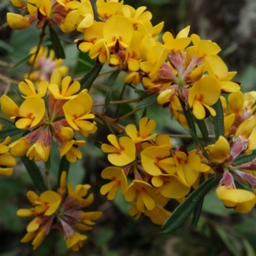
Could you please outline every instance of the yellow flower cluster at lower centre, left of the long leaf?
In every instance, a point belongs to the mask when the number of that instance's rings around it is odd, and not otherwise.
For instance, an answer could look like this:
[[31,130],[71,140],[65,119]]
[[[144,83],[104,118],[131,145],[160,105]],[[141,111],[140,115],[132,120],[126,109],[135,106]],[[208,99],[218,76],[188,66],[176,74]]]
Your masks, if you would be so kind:
[[[111,182],[102,186],[100,193],[113,200],[120,187],[125,200],[132,202],[132,216],[139,218],[143,212],[161,225],[170,215],[164,209],[168,200],[182,202],[191,186],[198,186],[200,174],[213,171],[211,166],[201,163],[195,150],[188,152],[184,145],[174,148],[167,134],[152,134],[155,128],[154,120],[143,117],[139,131],[129,124],[125,127],[127,136],[108,136],[108,143],[102,144],[101,149],[108,153],[109,162],[118,167],[102,171],[102,178]],[[129,186],[127,175],[133,176]]]

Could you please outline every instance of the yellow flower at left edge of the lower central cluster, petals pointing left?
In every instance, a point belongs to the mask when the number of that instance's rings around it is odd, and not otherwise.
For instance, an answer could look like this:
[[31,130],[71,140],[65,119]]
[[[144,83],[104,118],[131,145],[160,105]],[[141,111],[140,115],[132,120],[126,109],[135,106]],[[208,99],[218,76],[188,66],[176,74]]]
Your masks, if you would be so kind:
[[131,138],[108,135],[109,144],[102,144],[101,150],[108,154],[108,161],[116,166],[125,166],[135,160],[135,145]]

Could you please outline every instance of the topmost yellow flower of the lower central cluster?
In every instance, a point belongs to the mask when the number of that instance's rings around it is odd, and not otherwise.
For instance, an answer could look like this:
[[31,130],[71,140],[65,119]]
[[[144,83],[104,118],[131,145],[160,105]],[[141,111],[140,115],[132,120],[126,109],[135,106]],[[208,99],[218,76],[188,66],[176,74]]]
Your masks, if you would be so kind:
[[154,129],[156,129],[156,121],[143,117],[139,122],[139,132],[134,124],[127,125],[125,127],[125,132],[132,138],[134,143],[138,143],[141,141],[152,140],[152,138],[156,137],[156,133],[150,134]]

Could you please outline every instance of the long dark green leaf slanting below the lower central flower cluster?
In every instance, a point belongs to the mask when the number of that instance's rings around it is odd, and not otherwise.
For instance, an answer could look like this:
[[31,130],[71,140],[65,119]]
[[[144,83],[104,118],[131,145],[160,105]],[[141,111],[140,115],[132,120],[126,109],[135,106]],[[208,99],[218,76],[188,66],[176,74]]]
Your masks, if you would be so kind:
[[195,209],[198,202],[204,198],[211,189],[216,178],[211,177],[196,188],[176,209],[171,216],[164,222],[161,231],[164,234],[170,234],[180,227],[186,221],[189,214]]

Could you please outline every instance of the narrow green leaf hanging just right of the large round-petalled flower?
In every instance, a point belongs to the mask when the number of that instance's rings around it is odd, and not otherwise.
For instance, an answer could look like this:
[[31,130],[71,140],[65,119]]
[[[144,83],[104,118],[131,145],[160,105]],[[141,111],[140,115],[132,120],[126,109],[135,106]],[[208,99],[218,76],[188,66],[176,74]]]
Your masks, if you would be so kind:
[[224,116],[223,116],[223,108],[221,105],[220,99],[211,106],[216,111],[216,116],[212,116],[213,124],[214,124],[214,131],[216,140],[219,139],[220,136],[224,136]]

